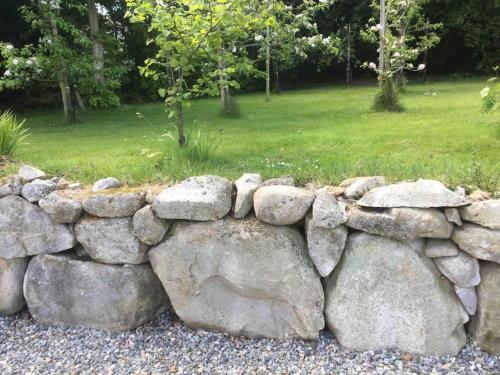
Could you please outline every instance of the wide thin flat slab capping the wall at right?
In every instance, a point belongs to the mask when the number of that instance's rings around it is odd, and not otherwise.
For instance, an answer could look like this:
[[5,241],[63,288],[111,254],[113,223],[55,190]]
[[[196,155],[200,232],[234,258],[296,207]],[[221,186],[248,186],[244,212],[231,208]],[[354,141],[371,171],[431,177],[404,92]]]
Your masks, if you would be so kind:
[[402,182],[375,188],[358,202],[365,207],[458,207],[469,201],[433,180]]

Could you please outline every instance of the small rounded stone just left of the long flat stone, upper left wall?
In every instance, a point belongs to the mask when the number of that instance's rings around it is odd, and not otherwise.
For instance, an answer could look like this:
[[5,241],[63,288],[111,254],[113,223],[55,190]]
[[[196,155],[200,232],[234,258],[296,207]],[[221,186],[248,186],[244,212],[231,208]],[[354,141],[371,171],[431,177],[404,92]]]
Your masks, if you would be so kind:
[[58,223],[76,223],[83,213],[80,196],[66,190],[50,193],[38,205]]

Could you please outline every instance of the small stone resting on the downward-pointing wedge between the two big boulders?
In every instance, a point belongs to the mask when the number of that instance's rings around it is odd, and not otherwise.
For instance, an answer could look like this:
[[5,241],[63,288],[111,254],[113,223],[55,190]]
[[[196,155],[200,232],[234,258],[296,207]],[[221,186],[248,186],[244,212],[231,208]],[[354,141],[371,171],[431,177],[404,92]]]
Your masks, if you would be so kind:
[[340,205],[335,195],[327,191],[316,194],[312,209],[314,225],[320,228],[336,228],[347,221],[345,206]]

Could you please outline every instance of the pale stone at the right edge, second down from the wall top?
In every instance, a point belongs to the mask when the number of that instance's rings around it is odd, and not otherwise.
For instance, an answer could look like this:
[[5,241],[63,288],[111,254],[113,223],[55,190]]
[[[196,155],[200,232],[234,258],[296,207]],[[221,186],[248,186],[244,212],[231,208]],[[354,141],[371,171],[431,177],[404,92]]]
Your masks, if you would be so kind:
[[474,258],[500,263],[500,230],[464,223],[451,239]]

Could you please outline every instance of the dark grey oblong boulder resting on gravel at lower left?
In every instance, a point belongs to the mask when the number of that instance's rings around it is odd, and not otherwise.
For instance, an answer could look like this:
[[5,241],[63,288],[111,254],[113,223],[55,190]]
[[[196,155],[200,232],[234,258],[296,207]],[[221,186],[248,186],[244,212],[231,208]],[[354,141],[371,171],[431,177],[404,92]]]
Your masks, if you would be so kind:
[[152,320],[167,300],[149,264],[116,266],[74,255],[33,258],[24,294],[41,323],[110,331]]

